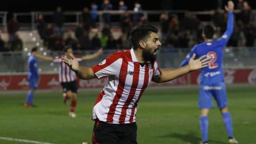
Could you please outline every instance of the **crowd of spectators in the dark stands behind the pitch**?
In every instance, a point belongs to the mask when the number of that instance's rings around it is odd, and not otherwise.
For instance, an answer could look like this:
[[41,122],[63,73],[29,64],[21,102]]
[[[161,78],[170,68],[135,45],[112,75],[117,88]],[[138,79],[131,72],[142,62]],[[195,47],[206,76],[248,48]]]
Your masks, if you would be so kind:
[[[113,37],[111,26],[111,14],[104,13],[102,15],[104,28],[101,34],[95,33],[89,36],[91,29],[96,28],[98,21],[98,10],[113,10],[113,6],[109,0],[103,0],[101,6],[95,3],[91,4],[91,8],[84,8],[81,14],[80,23],[73,30],[65,30],[64,36],[63,24],[65,15],[61,7],[57,7],[53,14],[53,23],[45,23],[44,16],[38,15],[37,30],[40,38],[44,41],[44,45],[50,50],[63,50],[67,45],[71,45],[74,50],[92,50],[100,47],[105,49],[129,49],[131,44],[129,41],[129,32],[133,26],[138,24],[146,24],[147,19],[142,13],[130,14],[124,1],[119,3],[119,10],[124,11],[120,14],[121,36],[117,39]],[[241,10],[235,15],[235,24],[233,34],[230,38],[228,46],[256,46],[256,15],[252,13],[250,5],[247,1],[238,0],[236,9]],[[134,12],[140,12],[142,6],[136,2],[134,4]],[[226,30],[227,14],[218,8],[212,15],[212,24],[216,28],[216,38],[221,36]],[[163,13],[159,16],[159,30],[162,47],[166,48],[192,48],[193,45],[201,43],[203,24],[197,18],[197,15],[189,12],[184,15]],[[22,50],[22,41],[16,32],[19,30],[19,24],[15,18],[8,23],[9,42],[6,46],[0,37],[0,51],[18,51]],[[74,36],[71,31],[74,32]]]

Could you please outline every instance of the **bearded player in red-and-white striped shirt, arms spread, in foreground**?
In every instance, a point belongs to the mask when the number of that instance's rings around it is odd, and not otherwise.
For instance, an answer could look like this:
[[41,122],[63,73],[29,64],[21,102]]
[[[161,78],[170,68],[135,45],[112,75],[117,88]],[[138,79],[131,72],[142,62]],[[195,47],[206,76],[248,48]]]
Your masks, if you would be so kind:
[[62,58],[81,79],[108,77],[93,106],[93,144],[137,144],[137,103],[150,81],[170,81],[209,63],[205,55],[194,60],[194,54],[188,65],[161,71],[156,61],[161,46],[157,33],[154,26],[136,26],[131,31],[130,50],[113,53],[91,68],[79,66],[72,54],[72,59]]

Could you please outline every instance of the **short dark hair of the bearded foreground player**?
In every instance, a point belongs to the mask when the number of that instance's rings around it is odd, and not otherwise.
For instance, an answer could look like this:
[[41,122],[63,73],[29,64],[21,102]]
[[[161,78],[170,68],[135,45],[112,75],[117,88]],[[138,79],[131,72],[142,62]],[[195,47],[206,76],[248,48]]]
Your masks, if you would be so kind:
[[149,24],[135,26],[130,34],[130,41],[133,49],[137,49],[139,47],[139,41],[147,38],[151,32],[158,33],[158,29]]

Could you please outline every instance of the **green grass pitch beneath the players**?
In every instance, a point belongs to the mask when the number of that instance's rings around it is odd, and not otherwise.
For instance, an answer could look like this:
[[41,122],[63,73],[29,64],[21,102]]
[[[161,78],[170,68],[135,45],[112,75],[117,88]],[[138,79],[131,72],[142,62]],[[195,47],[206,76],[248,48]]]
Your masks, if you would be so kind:
[[[91,143],[92,107],[99,91],[78,94],[77,118],[68,116],[69,105],[59,91],[36,92],[37,108],[24,108],[26,93],[0,95],[0,136],[55,144]],[[139,102],[139,144],[198,144],[198,89],[148,89]],[[69,103],[70,101],[68,101]],[[228,88],[233,131],[241,144],[256,144],[255,88]],[[227,144],[227,133],[216,103],[209,113],[209,143]],[[1,140],[1,144],[21,142]],[[22,143],[21,143],[22,144]]]

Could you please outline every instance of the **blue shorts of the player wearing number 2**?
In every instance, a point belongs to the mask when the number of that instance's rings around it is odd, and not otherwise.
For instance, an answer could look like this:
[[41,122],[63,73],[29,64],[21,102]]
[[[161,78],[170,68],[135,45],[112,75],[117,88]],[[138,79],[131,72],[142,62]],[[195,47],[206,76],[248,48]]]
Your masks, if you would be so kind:
[[212,96],[216,100],[219,109],[227,106],[227,92],[224,82],[200,86],[198,102],[199,109],[213,108]]

